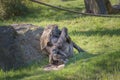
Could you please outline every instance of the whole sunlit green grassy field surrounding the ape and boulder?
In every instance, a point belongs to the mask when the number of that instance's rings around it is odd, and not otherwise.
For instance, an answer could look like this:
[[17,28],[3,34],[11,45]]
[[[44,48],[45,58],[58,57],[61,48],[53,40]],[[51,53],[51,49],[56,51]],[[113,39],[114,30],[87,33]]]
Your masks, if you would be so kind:
[[[45,1],[45,0],[43,0]],[[50,4],[83,11],[83,0],[46,0]],[[114,0],[113,0],[114,2]],[[29,5],[28,5],[29,6]],[[0,25],[30,23],[67,27],[72,40],[86,52],[75,52],[60,71],[43,71],[48,61],[18,70],[0,70],[0,80],[119,80],[120,18],[90,17],[32,4],[28,15],[0,21]]]

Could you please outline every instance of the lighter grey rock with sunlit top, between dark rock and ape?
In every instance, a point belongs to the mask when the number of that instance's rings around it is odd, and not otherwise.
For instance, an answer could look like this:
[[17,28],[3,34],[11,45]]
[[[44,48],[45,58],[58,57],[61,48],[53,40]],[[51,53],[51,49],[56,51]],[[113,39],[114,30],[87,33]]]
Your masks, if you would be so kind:
[[24,62],[31,63],[34,60],[40,60],[42,58],[40,36],[43,28],[32,24],[14,24],[12,26],[18,33],[17,41],[20,44]]

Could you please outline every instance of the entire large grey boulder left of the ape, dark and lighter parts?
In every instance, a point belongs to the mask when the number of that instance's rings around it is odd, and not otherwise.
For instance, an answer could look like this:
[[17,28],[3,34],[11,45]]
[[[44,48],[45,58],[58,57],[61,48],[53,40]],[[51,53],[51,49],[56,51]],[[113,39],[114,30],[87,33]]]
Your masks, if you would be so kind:
[[8,70],[40,61],[43,28],[31,24],[0,27],[0,68]]

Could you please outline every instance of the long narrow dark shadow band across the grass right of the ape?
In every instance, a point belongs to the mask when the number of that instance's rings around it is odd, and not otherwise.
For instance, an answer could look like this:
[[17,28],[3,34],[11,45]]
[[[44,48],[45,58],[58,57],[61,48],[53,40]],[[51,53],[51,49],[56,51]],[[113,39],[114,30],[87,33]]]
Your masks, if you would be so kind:
[[104,36],[104,35],[108,35],[108,36],[120,36],[120,29],[113,29],[113,30],[109,30],[109,29],[105,29],[105,30],[97,30],[97,31],[72,31],[70,32],[71,35],[84,35],[84,36],[95,36],[95,35],[99,35],[99,36]]

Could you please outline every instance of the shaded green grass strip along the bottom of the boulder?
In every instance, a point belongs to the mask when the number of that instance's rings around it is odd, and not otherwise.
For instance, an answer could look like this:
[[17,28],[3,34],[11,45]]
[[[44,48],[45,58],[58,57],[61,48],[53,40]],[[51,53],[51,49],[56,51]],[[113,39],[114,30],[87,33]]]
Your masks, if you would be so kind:
[[[46,59],[47,60],[47,59]],[[24,78],[28,78],[31,76],[41,76],[41,75],[46,75],[48,72],[44,72],[42,68],[46,65],[45,62],[34,62],[32,64],[23,66],[19,69],[4,72],[4,78],[0,79],[5,79],[5,80],[20,80]],[[13,76],[11,76],[13,75]]]

